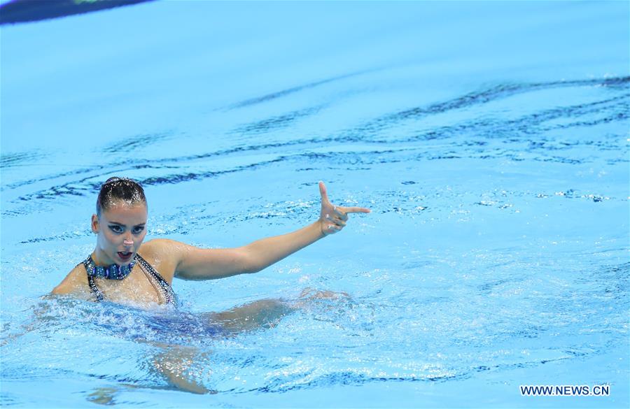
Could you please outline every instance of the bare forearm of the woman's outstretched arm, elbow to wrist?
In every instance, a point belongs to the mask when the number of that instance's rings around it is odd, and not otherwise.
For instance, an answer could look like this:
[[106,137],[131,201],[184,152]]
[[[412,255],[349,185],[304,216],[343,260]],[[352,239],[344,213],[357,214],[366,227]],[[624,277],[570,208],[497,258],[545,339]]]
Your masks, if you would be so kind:
[[257,273],[323,237],[321,222],[318,220],[292,233],[250,243],[243,247],[248,254],[248,272]]

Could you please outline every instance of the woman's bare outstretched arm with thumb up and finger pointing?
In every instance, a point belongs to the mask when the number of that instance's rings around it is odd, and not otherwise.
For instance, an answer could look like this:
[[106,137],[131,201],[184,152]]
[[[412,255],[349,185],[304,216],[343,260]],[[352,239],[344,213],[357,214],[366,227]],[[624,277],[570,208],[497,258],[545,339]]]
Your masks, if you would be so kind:
[[257,273],[320,238],[341,231],[346,226],[349,213],[370,213],[367,208],[334,206],[328,200],[323,182],[319,182],[319,192],[319,219],[289,234],[263,238],[243,247],[229,249],[200,249],[175,241],[163,241],[171,247],[169,254],[176,255],[175,276],[185,280],[211,280]]

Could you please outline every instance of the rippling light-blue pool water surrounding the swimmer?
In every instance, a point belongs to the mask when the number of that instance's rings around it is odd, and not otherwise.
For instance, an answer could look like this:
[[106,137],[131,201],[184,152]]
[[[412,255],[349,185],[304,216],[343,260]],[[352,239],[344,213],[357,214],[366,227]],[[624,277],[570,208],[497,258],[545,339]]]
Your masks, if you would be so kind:
[[[3,26],[1,405],[627,408],[629,7],[155,1]],[[147,239],[292,231],[318,180],[372,213],[255,275],[175,280],[177,312],[42,298],[93,249],[111,175],[144,184]],[[306,287],[352,299],[202,320]],[[169,388],[159,345],[216,393]]]

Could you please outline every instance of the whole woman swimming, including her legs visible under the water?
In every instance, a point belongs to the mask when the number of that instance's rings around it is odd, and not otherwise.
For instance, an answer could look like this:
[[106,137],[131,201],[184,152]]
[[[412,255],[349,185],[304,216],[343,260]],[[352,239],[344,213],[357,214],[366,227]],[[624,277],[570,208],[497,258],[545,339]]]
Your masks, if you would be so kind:
[[[370,213],[367,208],[333,206],[323,182],[319,182],[321,212],[316,222],[282,236],[263,238],[237,248],[202,249],[166,238],[146,243],[147,201],[141,185],[128,178],[110,178],[101,187],[92,232],[96,247],[52,290],[94,301],[127,303],[142,308],[155,304],[175,305],[173,278],[213,280],[242,273],[256,273],[318,241],[341,231],[349,213]],[[318,298],[338,298],[332,292],[305,290],[296,303],[265,299],[221,313],[200,315],[225,333],[273,325],[279,317]],[[153,368],[170,385],[188,392],[207,393],[204,385],[186,375],[195,348],[156,345],[162,350],[153,359]],[[97,399],[102,391],[95,392]]]

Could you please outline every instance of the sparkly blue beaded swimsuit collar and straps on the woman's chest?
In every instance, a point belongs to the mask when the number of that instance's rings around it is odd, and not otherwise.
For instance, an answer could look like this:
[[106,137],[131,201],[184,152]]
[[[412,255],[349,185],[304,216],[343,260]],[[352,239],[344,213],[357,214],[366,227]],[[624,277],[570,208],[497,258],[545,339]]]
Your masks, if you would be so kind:
[[[144,272],[146,278],[148,278],[149,282],[151,282],[151,284],[155,288],[155,291],[158,292],[158,299],[160,300],[160,303],[176,305],[175,292],[173,291],[171,285],[169,285],[169,283],[164,278],[162,278],[162,275],[160,275],[158,271],[155,271],[155,268],[153,268],[151,264],[148,264],[148,262],[140,256],[140,254],[136,254],[134,256],[132,263],[130,263],[131,267],[129,268],[129,271],[136,263],[139,264],[140,269]],[[96,296],[97,301],[103,301],[105,299],[105,296],[97,287],[96,282],[94,282],[94,277],[104,277],[104,268],[96,266],[94,264],[94,260],[92,260],[91,255],[87,257],[85,261],[83,261],[83,266],[85,266],[85,271],[87,273],[87,284],[90,286],[92,294]],[[106,270],[107,269],[105,269],[105,271]],[[120,267],[118,267],[118,272],[120,272]],[[106,271],[106,273],[110,272]],[[122,278],[120,276],[114,277],[114,279],[118,280]]]

